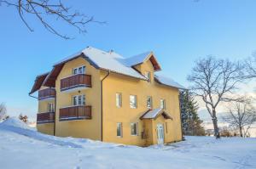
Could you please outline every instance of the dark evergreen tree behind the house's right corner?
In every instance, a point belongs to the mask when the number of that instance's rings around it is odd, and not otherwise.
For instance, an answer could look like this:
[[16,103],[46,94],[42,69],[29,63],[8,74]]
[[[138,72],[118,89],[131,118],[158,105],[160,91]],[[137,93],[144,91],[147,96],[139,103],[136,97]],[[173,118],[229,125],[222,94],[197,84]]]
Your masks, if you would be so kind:
[[179,94],[181,121],[184,135],[205,135],[205,130],[201,127],[203,121],[200,120],[197,110],[198,104],[189,91],[181,91]]

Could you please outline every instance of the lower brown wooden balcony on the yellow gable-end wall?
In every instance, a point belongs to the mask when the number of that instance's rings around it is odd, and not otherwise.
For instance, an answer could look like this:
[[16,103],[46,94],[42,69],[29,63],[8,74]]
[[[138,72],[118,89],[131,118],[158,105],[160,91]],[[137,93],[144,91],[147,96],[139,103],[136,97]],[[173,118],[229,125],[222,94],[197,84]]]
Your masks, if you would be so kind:
[[91,119],[90,105],[77,105],[60,109],[60,121]]

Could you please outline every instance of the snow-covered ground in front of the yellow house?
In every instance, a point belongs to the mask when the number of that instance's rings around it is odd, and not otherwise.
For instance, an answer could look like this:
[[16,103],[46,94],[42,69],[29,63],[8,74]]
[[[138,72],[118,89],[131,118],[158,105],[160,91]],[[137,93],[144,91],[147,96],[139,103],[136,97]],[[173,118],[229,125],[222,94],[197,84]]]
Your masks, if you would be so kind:
[[256,138],[187,137],[140,148],[48,136],[10,118],[0,124],[0,168],[256,168]]

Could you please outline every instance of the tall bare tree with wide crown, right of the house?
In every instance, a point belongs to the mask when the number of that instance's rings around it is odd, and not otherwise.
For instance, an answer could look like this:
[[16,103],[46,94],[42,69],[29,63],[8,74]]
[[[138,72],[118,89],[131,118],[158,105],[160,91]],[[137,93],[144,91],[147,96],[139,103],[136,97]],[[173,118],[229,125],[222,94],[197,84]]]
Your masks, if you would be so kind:
[[195,67],[188,76],[192,83],[191,91],[204,102],[212,117],[214,136],[219,138],[217,107],[221,102],[230,101],[237,83],[244,78],[243,66],[228,59],[215,59],[208,56],[195,62]]

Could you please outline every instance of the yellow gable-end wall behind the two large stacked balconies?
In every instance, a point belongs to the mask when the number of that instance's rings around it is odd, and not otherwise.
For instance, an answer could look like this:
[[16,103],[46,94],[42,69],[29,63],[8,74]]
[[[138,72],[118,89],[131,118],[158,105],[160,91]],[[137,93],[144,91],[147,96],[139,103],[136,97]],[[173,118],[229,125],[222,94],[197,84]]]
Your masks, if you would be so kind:
[[[86,74],[91,75],[91,88],[63,93],[60,90],[61,79],[72,75],[73,68],[85,65]],[[61,137],[101,139],[101,84],[100,72],[83,58],[67,62],[55,82],[56,110],[55,135]],[[72,105],[73,95],[85,94],[86,105],[91,105],[91,119],[79,121],[59,121],[59,110]]]

